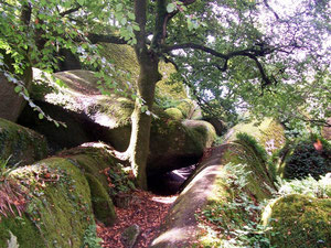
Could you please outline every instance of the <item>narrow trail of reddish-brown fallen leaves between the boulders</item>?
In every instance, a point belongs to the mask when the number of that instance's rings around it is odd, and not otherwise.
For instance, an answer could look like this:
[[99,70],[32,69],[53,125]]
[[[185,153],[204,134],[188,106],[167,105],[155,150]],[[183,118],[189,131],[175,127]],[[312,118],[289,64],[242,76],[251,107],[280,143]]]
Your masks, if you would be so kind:
[[113,227],[97,224],[97,235],[104,248],[124,248],[122,231],[132,226],[140,227],[140,235],[134,248],[148,247],[158,235],[159,227],[178,195],[159,196],[145,191],[135,191],[125,208],[116,207],[117,222]]

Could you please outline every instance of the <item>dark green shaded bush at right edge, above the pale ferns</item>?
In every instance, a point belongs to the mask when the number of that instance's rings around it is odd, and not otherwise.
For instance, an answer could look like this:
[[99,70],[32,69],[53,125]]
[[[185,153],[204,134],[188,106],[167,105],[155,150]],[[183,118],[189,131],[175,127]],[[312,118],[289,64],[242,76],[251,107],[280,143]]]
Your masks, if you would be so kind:
[[[313,145],[318,140],[322,140],[322,150],[317,150]],[[300,139],[285,161],[284,177],[302,179],[311,175],[318,179],[324,175],[331,171],[330,152],[330,144],[321,138]]]

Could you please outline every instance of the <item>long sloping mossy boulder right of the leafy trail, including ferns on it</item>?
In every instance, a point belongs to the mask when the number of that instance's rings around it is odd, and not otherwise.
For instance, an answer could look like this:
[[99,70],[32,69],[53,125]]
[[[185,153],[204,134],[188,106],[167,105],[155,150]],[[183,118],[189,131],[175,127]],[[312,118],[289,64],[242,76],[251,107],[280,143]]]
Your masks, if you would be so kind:
[[217,219],[213,223],[218,229],[238,229],[252,217],[241,205],[244,198],[250,198],[254,205],[270,197],[273,187],[266,166],[253,150],[241,143],[214,148],[174,202],[151,247],[194,247],[193,241],[196,240],[201,247],[222,247],[229,237],[227,233],[216,236],[213,244],[199,240],[207,235],[207,231],[203,233],[204,236],[199,233],[199,216],[202,213],[210,214],[210,218],[214,216]]

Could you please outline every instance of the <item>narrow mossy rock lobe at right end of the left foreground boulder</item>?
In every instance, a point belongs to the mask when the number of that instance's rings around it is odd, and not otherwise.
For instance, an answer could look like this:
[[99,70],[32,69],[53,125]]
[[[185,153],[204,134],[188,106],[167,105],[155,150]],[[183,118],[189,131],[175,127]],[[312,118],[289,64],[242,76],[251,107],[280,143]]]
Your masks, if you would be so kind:
[[115,207],[107,191],[102,183],[92,174],[85,174],[92,194],[92,205],[95,217],[104,224],[110,226],[116,220]]

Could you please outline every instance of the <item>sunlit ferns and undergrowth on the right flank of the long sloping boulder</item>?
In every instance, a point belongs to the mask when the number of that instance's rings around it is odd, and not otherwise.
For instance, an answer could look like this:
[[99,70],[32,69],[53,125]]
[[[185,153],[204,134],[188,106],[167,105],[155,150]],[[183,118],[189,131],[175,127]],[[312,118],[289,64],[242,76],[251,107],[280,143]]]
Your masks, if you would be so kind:
[[245,165],[228,163],[224,170],[227,201],[207,204],[195,215],[202,228],[197,247],[273,247],[260,225],[263,204],[245,191]]

